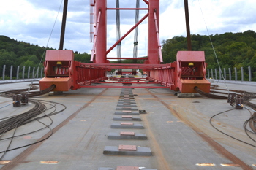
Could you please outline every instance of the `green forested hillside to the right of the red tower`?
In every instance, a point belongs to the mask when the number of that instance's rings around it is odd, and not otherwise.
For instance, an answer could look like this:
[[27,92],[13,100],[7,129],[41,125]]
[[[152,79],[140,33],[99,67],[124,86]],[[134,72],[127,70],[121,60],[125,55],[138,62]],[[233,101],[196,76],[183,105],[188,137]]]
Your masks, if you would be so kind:
[[[211,35],[211,41],[222,68],[240,69],[251,66],[256,71],[256,33],[225,33]],[[205,51],[208,69],[219,68],[209,36],[192,35],[192,50]],[[162,42],[162,55],[165,63],[176,61],[178,50],[187,50],[187,38],[175,36]]]

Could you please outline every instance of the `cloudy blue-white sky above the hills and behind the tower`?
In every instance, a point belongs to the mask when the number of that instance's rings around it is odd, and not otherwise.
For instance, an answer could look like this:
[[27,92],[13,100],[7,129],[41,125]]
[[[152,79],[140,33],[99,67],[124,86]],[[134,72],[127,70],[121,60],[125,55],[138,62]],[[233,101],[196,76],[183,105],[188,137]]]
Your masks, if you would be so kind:
[[[59,48],[63,0],[0,0],[0,35],[34,45]],[[136,0],[121,0],[120,7],[135,7]],[[191,34],[207,35],[225,32],[256,31],[255,0],[188,0]],[[90,0],[69,0],[64,48],[80,53],[91,53],[89,39]],[[108,7],[115,7],[115,0],[108,0]],[[140,7],[146,4],[140,0]],[[202,12],[203,15],[202,15]],[[146,13],[140,12],[140,18]],[[186,36],[184,0],[160,0],[160,41],[173,36]],[[135,23],[135,11],[121,11],[121,35]],[[147,26],[139,26],[138,56],[147,51]],[[116,15],[108,11],[108,48],[116,41]],[[121,43],[123,57],[132,57],[134,33]],[[115,57],[116,50],[108,56]]]

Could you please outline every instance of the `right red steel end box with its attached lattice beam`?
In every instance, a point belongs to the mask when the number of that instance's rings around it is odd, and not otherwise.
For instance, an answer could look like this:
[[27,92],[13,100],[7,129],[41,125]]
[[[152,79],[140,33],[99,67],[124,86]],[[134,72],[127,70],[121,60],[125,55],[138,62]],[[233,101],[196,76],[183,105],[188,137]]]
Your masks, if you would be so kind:
[[[206,93],[210,92],[210,82],[206,80],[206,62],[203,51],[178,51],[177,61],[170,67],[148,69],[148,80],[159,82],[181,93],[197,93],[197,86]],[[189,63],[193,63],[189,67]]]

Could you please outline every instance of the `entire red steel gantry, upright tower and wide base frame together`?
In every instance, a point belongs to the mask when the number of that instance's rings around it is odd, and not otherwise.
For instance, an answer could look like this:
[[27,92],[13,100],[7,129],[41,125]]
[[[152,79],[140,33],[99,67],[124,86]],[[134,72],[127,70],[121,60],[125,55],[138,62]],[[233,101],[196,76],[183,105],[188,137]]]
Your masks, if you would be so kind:
[[[210,82],[206,80],[206,61],[203,51],[178,51],[176,61],[161,64],[162,52],[159,41],[159,0],[143,0],[147,8],[108,8],[107,0],[91,0],[91,19],[93,24],[92,63],[74,61],[72,50],[48,50],[45,57],[45,77],[39,81],[40,90],[56,85],[53,91],[75,90],[92,82],[108,80],[106,73],[110,69],[143,69],[147,80],[161,86],[132,86],[132,88],[170,88],[181,93],[196,93],[195,87],[206,93],[210,91]],[[107,10],[147,10],[146,15],[135,23],[124,36],[107,50]],[[146,58],[108,58],[107,55],[140,23],[148,18],[148,57]],[[109,59],[143,59],[138,63],[110,63]],[[148,83],[145,79],[129,79],[132,83]],[[118,79],[118,82],[122,82]],[[105,83],[115,82],[108,80]],[[127,79],[125,79],[127,82]],[[123,83],[125,83],[123,82]],[[129,83],[131,83],[129,82]],[[95,86],[94,86],[95,87]],[[124,87],[100,85],[97,87]]]

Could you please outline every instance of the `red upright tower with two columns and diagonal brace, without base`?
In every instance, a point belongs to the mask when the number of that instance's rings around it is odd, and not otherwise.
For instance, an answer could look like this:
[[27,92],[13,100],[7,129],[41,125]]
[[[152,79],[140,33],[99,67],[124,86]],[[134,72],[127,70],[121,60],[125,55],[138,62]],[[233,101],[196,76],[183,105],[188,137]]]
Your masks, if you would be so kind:
[[[91,61],[94,59],[94,63],[108,63],[107,54],[113,50],[118,43],[120,43],[124,38],[130,34],[145,18],[148,18],[148,62],[150,64],[159,64],[162,62],[161,46],[159,43],[159,0],[143,0],[148,5],[148,13],[140,19],[140,21],[132,26],[132,28],[127,31],[124,36],[121,37],[114,45],[110,47],[109,50],[107,47],[107,10],[108,9],[117,9],[117,8],[107,8],[107,0],[96,0],[95,1],[95,18],[97,20],[96,30],[94,34],[94,43],[95,46],[92,49]],[[128,8],[118,8],[118,9],[128,9]],[[132,8],[134,9],[134,8]],[[143,9],[145,8],[138,8]],[[94,58],[94,51],[96,57]]]

